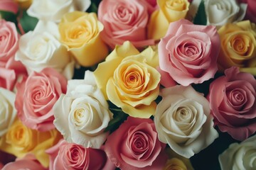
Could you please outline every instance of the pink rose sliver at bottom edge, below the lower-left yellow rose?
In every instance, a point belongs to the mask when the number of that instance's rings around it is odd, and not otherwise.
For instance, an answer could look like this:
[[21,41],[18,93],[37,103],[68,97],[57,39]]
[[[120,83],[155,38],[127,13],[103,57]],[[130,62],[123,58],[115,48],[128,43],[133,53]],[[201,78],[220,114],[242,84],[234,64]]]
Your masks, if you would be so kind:
[[29,169],[29,170],[46,170],[33,154],[27,154],[21,159],[16,159],[15,162],[9,162],[1,170],[10,170],[10,169]]

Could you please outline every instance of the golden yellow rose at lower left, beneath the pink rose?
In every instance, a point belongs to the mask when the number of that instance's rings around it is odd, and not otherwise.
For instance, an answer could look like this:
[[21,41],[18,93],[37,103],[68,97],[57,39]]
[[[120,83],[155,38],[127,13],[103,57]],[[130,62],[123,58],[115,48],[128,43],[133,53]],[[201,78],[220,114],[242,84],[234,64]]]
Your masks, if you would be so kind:
[[27,128],[20,120],[16,120],[6,135],[0,139],[0,149],[18,158],[24,157],[27,153],[34,154],[43,166],[48,167],[49,158],[45,150],[53,147],[61,137],[57,130],[39,132]]

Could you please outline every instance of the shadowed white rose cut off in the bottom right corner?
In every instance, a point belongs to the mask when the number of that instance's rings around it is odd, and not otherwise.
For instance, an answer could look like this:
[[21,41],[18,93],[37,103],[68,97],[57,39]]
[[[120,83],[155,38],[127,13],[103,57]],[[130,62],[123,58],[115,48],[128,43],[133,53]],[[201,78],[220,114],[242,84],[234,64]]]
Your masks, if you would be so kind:
[[256,169],[256,135],[240,144],[233,143],[219,156],[221,169],[253,170]]

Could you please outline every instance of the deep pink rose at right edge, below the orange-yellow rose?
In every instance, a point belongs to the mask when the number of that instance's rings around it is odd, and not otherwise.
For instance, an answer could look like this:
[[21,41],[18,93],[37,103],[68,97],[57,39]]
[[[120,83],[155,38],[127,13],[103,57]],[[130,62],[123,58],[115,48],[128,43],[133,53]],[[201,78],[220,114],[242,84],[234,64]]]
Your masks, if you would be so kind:
[[256,132],[256,80],[237,67],[210,84],[208,100],[215,125],[235,140],[245,140]]

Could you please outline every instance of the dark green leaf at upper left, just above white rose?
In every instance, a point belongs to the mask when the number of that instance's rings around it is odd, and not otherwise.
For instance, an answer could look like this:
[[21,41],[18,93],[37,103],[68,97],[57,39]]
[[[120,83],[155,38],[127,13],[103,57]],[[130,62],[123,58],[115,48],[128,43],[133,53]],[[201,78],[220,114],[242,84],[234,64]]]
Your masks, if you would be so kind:
[[20,23],[24,32],[28,33],[28,31],[33,30],[36,27],[38,19],[32,16],[28,16],[28,13],[26,13],[26,11],[23,11]]

